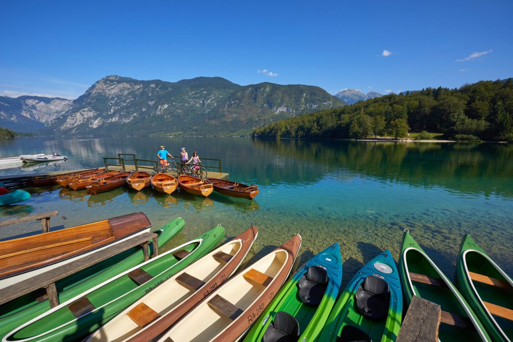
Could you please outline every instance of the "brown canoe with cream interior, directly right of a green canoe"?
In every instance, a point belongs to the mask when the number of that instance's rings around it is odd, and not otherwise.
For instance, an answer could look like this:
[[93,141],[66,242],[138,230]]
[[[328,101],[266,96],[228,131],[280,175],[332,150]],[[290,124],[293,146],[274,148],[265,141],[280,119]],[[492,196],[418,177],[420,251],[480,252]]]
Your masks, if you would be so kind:
[[257,235],[257,227],[246,229],[167,279],[86,341],[149,341],[158,337],[236,271]]

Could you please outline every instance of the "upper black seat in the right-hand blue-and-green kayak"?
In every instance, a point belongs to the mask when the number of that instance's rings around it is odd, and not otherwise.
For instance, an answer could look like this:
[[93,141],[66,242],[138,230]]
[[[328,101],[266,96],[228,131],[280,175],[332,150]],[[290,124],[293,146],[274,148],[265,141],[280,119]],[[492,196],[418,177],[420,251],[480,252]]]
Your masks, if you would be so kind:
[[388,314],[390,290],[385,280],[369,275],[356,291],[354,300],[358,311],[372,320],[380,320]]

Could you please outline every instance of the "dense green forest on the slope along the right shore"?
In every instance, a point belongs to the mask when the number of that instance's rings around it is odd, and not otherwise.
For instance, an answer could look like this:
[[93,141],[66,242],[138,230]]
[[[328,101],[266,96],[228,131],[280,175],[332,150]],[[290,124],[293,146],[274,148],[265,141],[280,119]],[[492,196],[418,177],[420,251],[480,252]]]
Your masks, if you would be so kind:
[[459,89],[426,88],[305,114],[253,130],[261,137],[404,138],[443,133],[456,140],[513,141],[513,78]]

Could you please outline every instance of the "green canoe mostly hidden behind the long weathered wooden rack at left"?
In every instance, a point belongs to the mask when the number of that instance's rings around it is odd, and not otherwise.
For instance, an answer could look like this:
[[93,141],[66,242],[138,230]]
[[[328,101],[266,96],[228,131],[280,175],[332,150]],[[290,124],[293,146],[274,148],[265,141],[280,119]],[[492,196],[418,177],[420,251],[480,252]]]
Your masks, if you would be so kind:
[[[159,248],[184,228],[184,220],[177,217],[167,225],[153,231],[159,234]],[[150,256],[153,254],[153,243],[150,243]],[[59,303],[64,303],[94,286],[120,274],[144,261],[143,250],[131,248],[96,265],[76,272],[56,282]],[[29,293],[0,306],[0,339],[9,331],[28,320],[50,310],[48,299],[38,301],[38,296]]]

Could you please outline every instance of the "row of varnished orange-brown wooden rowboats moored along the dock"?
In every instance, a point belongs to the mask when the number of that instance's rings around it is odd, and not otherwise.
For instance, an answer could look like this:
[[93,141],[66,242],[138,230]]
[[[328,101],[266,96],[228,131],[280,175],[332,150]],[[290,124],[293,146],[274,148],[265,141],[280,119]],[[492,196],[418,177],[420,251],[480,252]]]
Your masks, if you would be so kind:
[[190,175],[178,178],[167,173],[151,175],[145,171],[122,172],[105,169],[89,169],[62,175],[33,177],[29,179],[33,186],[60,184],[73,190],[87,189],[96,194],[109,191],[127,184],[130,188],[141,191],[150,186],[156,191],[171,194],[177,187],[198,196],[207,197],[213,190],[227,196],[253,199],[259,193],[258,186],[232,182],[231,180],[206,178],[200,179]]

